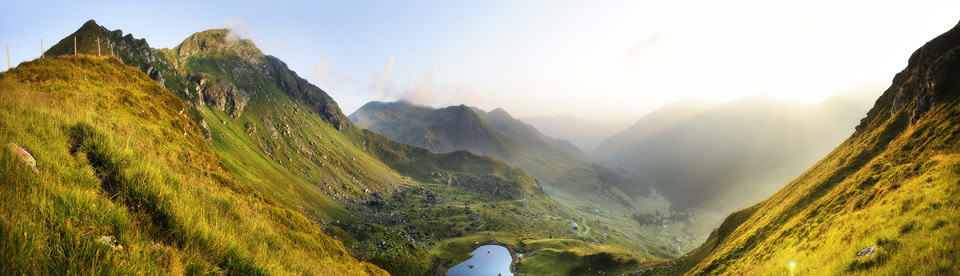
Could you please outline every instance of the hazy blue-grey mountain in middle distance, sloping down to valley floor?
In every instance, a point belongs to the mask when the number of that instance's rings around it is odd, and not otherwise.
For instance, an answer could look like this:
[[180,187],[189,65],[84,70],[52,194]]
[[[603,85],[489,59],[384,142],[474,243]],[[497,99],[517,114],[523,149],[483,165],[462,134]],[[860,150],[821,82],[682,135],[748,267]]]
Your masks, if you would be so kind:
[[503,109],[485,112],[465,105],[433,108],[403,101],[370,102],[349,118],[358,127],[438,152],[467,150],[503,159],[535,177],[558,203],[630,237],[622,246],[678,253],[664,246],[668,242],[646,238],[660,233],[663,224],[643,222],[639,223],[643,227],[637,227],[633,215],[668,210],[635,176],[540,133]]

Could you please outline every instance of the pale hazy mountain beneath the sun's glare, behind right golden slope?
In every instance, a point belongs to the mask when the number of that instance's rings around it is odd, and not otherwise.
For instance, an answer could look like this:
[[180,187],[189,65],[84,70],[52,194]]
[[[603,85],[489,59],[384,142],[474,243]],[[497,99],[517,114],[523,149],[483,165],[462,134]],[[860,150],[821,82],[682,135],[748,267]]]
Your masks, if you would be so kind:
[[769,196],[849,136],[866,112],[865,98],[676,103],[641,118],[595,154],[652,183],[676,210],[727,213]]

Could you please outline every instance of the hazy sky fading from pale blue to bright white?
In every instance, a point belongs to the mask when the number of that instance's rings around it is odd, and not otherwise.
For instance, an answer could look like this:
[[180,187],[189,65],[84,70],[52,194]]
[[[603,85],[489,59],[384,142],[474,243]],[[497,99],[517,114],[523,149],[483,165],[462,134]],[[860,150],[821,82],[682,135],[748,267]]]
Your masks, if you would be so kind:
[[10,1],[0,43],[16,64],[91,18],[158,48],[231,27],[347,114],[406,98],[632,121],[685,97],[883,89],[960,21],[956,0],[132,2]]

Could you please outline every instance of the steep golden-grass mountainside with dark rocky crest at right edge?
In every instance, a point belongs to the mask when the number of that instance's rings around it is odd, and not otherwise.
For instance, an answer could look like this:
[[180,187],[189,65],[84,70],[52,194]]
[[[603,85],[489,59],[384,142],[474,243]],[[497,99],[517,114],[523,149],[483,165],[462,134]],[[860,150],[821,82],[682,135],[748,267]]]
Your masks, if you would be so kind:
[[924,44],[856,131],[660,274],[960,271],[960,24]]

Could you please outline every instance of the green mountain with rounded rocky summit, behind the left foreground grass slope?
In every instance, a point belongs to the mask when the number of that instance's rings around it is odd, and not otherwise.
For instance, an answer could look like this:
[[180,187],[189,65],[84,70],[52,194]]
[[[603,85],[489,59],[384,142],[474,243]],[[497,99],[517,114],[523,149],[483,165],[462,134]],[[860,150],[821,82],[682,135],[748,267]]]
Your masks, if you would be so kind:
[[[75,35],[117,32],[95,31],[101,29],[88,22]],[[229,30],[195,33],[173,49],[144,50],[161,53],[177,76],[164,85],[181,90],[176,95],[185,103],[184,116],[237,186],[319,225],[351,255],[392,274],[442,272],[452,265],[448,256],[470,250],[438,256],[429,249],[477,232],[584,246],[625,238],[570,231],[571,219],[586,229],[595,223],[556,204],[536,180],[503,161],[465,151],[436,154],[353,126],[323,90]],[[118,56],[150,72],[142,60]],[[612,261],[623,271],[646,259],[632,253],[598,257],[579,265],[599,269]]]

